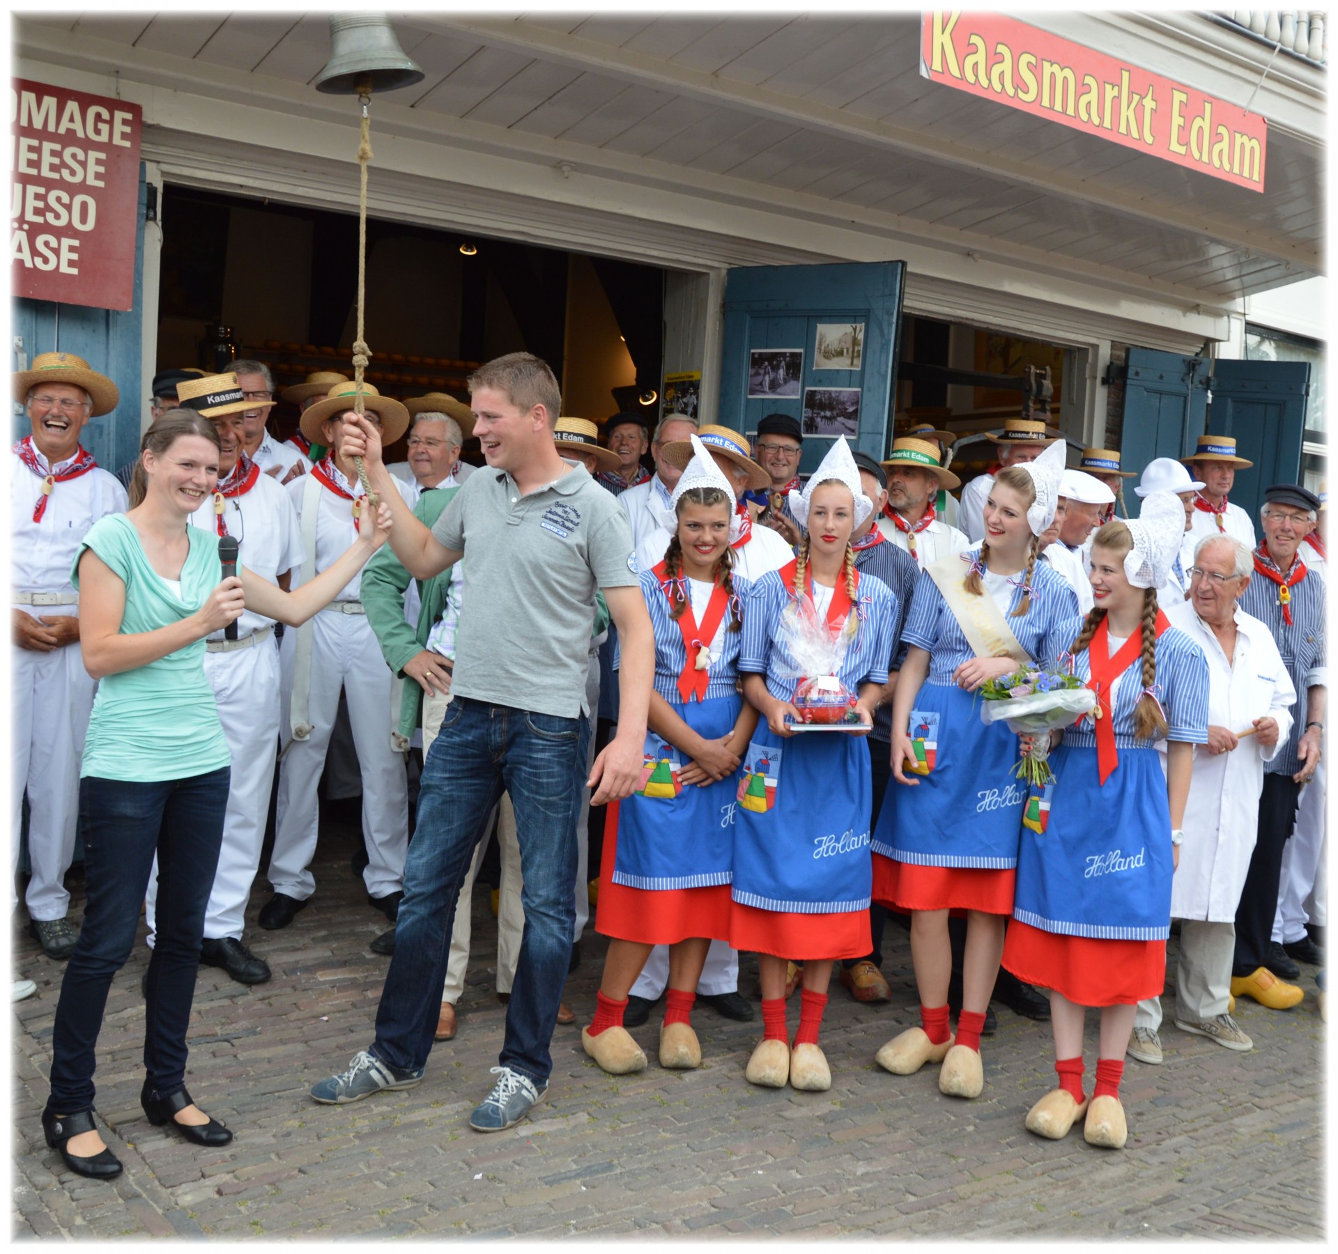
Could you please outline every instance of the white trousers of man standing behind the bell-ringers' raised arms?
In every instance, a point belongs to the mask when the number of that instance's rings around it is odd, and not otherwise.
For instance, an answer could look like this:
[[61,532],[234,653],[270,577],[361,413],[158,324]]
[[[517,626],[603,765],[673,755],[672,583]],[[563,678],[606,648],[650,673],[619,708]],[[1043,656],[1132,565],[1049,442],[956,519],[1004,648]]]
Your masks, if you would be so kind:
[[[363,882],[372,897],[385,897],[404,889],[409,822],[404,755],[391,747],[391,671],[364,615],[322,610],[313,630],[312,734],[289,745],[280,767],[269,881],[276,893],[296,901],[316,892],[310,872],[320,821],[316,790],[343,687],[363,774],[363,840],[371,858]],[[284,729],[285,738],[289,734]]]

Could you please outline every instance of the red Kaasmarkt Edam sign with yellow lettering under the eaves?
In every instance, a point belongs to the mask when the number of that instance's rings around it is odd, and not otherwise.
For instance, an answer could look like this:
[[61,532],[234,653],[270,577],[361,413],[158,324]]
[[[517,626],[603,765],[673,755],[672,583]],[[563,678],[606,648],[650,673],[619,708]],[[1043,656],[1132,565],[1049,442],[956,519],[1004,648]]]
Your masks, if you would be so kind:
[[925,13],[921,74],[958,91],[1263,191],[1258,114],[993,13]]

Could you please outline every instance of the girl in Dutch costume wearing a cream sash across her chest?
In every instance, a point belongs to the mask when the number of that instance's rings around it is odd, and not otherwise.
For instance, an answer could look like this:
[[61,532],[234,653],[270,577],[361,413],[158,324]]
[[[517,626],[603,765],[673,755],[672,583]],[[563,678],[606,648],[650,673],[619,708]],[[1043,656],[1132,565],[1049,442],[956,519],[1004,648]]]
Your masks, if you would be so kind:
[[[874,900],[911,916],[921,1027],[878,1051],[911,1075],[942,1063],[938,1087],[985,1087],[981,1028],[998,976],[1026,789],[1013,778],[1017,741],[981,721],[973,694],[1026,659],[1053,666],[1073,640],[1073,588],[1038,563],[1064,473],[1064,441],[999,471],[985,504],[985,539],[927,567],[902,639],[910,646],[892,701],[892,777],[874,832]],[[963,566],[965,564],[965,566]],[[949,912],[966,912],[962,1012],[949,1031]]]

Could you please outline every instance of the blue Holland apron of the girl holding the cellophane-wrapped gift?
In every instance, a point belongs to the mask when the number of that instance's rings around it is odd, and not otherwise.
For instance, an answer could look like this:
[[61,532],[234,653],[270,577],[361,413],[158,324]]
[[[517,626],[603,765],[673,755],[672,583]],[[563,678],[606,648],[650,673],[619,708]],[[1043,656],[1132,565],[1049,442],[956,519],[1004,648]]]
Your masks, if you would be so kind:
[[868,909],[872,771],[856,735],[759,723],[735,811],[733,900],[785,914]]

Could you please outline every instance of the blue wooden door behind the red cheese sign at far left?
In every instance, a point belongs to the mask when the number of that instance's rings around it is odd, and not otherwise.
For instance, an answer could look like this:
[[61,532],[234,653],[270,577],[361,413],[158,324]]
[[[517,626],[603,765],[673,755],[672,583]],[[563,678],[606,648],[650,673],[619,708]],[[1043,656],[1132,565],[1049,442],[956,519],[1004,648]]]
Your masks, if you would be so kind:
[[[116,472],[139,452],[139,424],[149,397],[140,380],[140,328],[145,273],[145,168],[139,167],[139,226],[135,233],[135,303],[126,311],[51,301],[13,301],[11,334],[23,341],[25,364],[39,353],[74,353],[106,374],[120,392],[120,402],[106,417],[92,418],[80,443],[103,469]],[[11,369],[20,366],[19,349]],[[16,404],[12,438],[28,434],[28,418]]]

